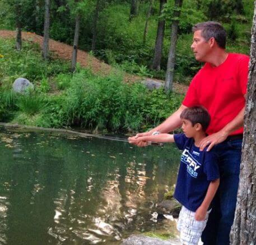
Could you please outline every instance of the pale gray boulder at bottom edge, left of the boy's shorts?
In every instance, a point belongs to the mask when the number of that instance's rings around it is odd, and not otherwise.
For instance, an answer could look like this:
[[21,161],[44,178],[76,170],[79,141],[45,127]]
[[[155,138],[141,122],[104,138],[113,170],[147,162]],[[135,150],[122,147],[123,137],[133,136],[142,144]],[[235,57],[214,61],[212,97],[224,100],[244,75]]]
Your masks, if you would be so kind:
[[132,235],[124,239],[123,245],[171,245],[176,244],[171,241],[163,241],[157,238],[146,237],[142,235]]

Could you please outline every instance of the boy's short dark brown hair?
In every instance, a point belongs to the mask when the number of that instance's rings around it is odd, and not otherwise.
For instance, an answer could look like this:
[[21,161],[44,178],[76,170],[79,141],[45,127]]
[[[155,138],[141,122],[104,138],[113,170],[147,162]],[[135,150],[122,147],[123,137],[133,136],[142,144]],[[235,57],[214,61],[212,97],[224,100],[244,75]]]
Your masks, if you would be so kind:
[[190,121],[192,126],[194,126],[196,123],[200,123],[204,132],[208,128],[211,121],[211,116],[207,109],[201,105],[184,109],[180,114],[180,118]]

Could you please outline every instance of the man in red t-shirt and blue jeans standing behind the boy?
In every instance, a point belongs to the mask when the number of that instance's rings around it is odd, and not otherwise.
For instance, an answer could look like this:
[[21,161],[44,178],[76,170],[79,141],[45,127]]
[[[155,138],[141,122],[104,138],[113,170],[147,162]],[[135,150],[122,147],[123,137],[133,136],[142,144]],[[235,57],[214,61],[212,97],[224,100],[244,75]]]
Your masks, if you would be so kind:
[[[217,22],[198,23],[193,27],[191,48],[197,61],[205,63],[190,83],[180,108],[156,128],[135,137],[166,133],[181,125],[180,114],[194,105],[203,105],[211,115],[208,137],[200,150],[215,146],[220,168],[220,187],[213,200],[212,212],[203,232],[204,244],[229,244],[238,191],[243,118],[249,57],[225,51],[226,32]],[[136,143],[146,146],[146,142]]]

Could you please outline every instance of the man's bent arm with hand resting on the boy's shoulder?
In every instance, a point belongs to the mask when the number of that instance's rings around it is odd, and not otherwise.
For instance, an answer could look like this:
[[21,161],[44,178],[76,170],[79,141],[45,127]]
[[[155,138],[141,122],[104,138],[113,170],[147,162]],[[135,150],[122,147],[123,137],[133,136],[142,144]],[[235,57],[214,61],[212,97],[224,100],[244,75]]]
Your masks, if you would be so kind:
[[204,138],[200,142],[200,151],[203,151],[207,145],[209,145],[207,151],[210,151],[214,145],[225,141],[231,132],[242,127],[244,124],[244,111],[245,107],[241,109],[241,111],[238,113],[238,116],[236,116],[230,123],[226,124],[224,128],[222,128],[217,133],[213,133],[210,136]]

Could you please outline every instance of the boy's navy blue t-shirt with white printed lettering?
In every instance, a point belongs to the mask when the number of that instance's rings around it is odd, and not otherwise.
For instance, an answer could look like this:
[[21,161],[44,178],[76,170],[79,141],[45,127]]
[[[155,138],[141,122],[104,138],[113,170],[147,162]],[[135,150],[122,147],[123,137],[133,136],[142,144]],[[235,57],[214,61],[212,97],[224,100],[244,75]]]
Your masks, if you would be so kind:
[[207,147],[199,151],[194,139],[187,138],[184,133],[174,134],[174,141],[179,150],[183,150],[174,198],[185,208],[196,212],[210,182],[220,177],[216,153],[213,149],[207,152]]

